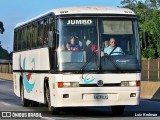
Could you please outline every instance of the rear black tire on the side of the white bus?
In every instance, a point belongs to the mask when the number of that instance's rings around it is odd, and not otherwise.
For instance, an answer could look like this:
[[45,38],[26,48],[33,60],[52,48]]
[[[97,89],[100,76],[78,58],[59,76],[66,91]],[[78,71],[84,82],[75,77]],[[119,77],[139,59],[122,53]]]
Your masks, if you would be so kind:
[[21,92],[22,105],[23,105],[24,107],[29,107],[30,104],[31,104],[31,102],[30,102],[30,100],[24,98],[24,86],[23,86],[22,83],[21,83],[21,90],[20,90],[20,92]]

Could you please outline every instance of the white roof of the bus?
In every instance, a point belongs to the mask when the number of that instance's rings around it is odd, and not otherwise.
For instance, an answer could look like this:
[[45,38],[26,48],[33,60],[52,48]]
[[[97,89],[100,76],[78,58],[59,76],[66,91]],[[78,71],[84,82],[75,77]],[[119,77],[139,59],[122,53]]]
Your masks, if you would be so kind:
[[16,27],[25,25],[31,21],[34,21],[38,18],[41,18],[47,14],[54,13],[55,15],[75,15],[75,14],[121,14],[121,15],[135,15],[135,13],[128,8],[118,8],[118,7],[66,7],[66,8],[57,8],[50,10],[44,14],[41,14],[35,18],[29,19],[25,22],[18,23]]

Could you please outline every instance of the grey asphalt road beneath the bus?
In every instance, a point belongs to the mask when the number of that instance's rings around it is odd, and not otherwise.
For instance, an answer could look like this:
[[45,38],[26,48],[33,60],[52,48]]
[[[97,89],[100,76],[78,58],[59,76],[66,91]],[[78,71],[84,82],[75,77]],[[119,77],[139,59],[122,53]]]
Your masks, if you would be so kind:
[[122,117],[113,116],[110,107],[65,108],[59,115],[51,115],[43,104],[40,104],[39,107],[23,107],[20,98],[13,92],[13,82],[0,80],[0,119],[3,119],[2,115],[6,114],[11,114],[14,117],[19,115],[21,118],[21,116],[26,114],[28,116],[30,113],[35,113],[35,116],[47,120],[158,120],[160,119],[160,102],[141,100],[138,106],[126,106]]

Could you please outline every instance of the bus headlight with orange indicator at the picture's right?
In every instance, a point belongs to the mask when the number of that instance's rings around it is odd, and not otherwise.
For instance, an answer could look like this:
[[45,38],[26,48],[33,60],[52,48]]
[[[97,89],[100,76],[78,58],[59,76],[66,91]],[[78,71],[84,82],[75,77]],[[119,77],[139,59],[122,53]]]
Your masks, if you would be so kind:
[[140,86],[140,81],[122,81],[121,82],[122,87],[136,87]]

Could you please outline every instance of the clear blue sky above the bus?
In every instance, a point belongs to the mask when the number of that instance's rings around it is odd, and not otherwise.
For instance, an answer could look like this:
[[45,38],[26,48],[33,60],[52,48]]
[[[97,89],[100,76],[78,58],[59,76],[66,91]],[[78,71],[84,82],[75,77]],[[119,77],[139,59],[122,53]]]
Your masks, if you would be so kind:
[[26,21],[51,9],[71,6],[121,6],[122,0],[0,0],[0,21],[5,32],[0,34],[1,45],[13,51],[13,32],[17,23]]

